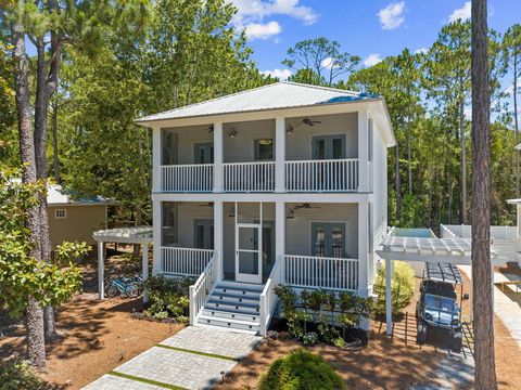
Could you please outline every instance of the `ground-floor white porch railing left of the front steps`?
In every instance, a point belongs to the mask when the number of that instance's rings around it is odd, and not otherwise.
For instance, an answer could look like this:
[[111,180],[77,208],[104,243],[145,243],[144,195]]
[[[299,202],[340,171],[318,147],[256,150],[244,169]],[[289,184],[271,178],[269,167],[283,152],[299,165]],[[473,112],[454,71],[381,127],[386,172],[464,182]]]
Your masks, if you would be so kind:
[[199,276],[214,256],[213,249],[161,247],[161,272]]

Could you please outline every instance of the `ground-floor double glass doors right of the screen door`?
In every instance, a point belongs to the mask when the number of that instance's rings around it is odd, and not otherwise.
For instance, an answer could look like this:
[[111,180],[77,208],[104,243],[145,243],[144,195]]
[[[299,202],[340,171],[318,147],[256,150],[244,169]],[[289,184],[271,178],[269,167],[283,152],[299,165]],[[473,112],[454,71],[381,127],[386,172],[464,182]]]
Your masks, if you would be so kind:
[[345,224],[335,222],[312,223],[313,256],[345,257]]

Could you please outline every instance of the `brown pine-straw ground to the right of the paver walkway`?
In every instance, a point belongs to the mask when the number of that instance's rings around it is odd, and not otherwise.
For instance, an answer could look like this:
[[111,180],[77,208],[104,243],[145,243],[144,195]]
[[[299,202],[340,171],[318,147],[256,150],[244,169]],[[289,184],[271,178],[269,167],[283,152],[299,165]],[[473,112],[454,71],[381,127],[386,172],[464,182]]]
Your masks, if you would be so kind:
[[[419,285],[417,280],[417,285]],[[465,291],[471,295],[467,281]],[[417,289],[418,291],[418,289]],[[414,307],[417,294],[404,316],[395,324],[392,339],[384,336],[385,324],[371,322],[368,348],[339,350],[318,346],[310,350],[321,354],[336,367],[351,389],[407,389],[415,385],[440,382],[433,375],[436,364],[447,356],[447,350],[436,344],[416,344],[416,321]],[[463,313],[469,313],[469,301],[463,301]],[[501,321],[495,318],[496,370],[500,389],[519,389],[521,350],[511,338]],[[217,389],[255,389],[258,378],[278,358],[302,347],[294,340],[270,340],[263,343],[232,370],[231,377]]]

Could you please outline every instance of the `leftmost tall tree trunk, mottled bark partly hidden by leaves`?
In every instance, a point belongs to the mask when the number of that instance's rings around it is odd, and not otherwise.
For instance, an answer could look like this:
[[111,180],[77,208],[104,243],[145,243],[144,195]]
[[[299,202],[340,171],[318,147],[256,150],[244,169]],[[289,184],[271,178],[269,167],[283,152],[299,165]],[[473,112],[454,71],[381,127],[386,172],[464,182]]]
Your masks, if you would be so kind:
[[[28,61],[25,49],[23,28],[25,1],[18,1],[16,18],[12,24],[13,56],[15,62],[15,101],[18,119],[20,157],[23,164],[22,180],[24,183],[37,181],[35,142],[33,138],[31,114],[29,104]],[[41,260],[40,248],[40,212],[39,207],[28,210],[26,226],[30,231],[33,244],[30,256]],[[46,365],[46,343],[43,337],[43,310],[34,297],[28,297],[26,312],[27,353],[30,363],[36,367]]]

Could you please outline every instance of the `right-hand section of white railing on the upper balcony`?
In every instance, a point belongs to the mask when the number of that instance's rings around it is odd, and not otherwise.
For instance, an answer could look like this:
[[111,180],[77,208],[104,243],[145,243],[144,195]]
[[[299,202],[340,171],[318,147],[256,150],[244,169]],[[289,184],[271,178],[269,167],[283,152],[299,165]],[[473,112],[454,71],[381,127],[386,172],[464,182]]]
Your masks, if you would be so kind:
[[285,161],[288,192],[357,191],[358,159]]

